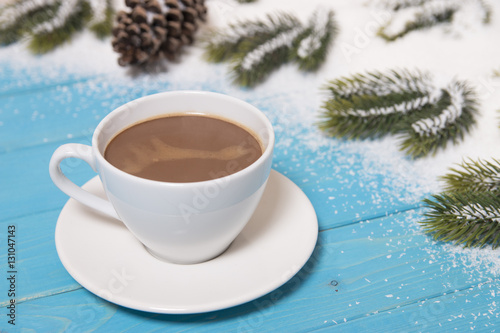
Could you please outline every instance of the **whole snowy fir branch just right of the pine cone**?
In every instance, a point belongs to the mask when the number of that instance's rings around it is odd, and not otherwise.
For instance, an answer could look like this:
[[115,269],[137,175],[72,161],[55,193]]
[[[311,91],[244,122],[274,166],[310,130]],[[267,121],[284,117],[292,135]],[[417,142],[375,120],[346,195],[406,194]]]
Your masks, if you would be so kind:
[[227,31],[214,30],[205,37],[205,58],[230,62],[233,82],[248,87],[261,83],[288,61],[298,63],[302,70],[316,70],[336,36],[333,12],[321,14],[326,14],[323,21],[312,19],[306,28],[294,16],[279,13],[266,20],[239,22]]

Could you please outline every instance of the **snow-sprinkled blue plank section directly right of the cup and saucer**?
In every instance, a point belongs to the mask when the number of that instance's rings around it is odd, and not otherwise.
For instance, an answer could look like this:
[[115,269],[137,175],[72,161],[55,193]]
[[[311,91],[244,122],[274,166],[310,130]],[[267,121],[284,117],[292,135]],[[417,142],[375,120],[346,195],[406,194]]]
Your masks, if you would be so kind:
[[[391,183],[394,176],[370,172],[363,156],[339,150],[318,160],[305,147],[276,149],[273,168],[296,183],[311,200],[323,229],[417,208],[425,192],[412,200],[399,197]],[[290,152],[292,156],[290,156]],[[344,166],[339,161],[350,159]]]

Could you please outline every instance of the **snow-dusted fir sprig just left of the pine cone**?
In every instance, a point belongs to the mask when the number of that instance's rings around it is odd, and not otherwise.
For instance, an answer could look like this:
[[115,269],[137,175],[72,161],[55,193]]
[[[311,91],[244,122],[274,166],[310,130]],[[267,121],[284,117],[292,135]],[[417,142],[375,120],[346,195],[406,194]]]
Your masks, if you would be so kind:
[[83,29],[92,15],[90,5],[87,2],[77,3],[74,7],[66,5],[59,8],[59,11],[61,10],[70,12],[68,14],[65,12],[57,20],[52,20],[53,25],[44,22],[33,29],[33,36],[29,44],[32,52],[47,53],[67,42],[75,32]]

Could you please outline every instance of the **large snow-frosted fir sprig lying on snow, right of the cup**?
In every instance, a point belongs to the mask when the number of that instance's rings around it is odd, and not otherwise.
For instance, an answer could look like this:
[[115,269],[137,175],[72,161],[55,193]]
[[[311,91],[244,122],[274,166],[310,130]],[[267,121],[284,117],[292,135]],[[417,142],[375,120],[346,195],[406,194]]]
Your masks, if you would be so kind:
[[402,137],[412,157],[457,143],[475,124],[477,97],[465,82],[438,90],[426,73],[407,70],[356,74],[328,82],[330,98],[318,126],[334,137]]

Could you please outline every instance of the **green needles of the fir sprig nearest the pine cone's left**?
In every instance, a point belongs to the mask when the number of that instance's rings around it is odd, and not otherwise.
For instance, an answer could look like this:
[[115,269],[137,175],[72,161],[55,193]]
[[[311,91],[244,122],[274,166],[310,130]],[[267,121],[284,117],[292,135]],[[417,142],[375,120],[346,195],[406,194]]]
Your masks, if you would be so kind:
[[29,43],[29,49],[37,54],[52,51],[57,46],[69,41],[75,32],[82,30],[91,15],[90,5],[87,2],[82,2],[63,26],[50,32],[34,34]]

